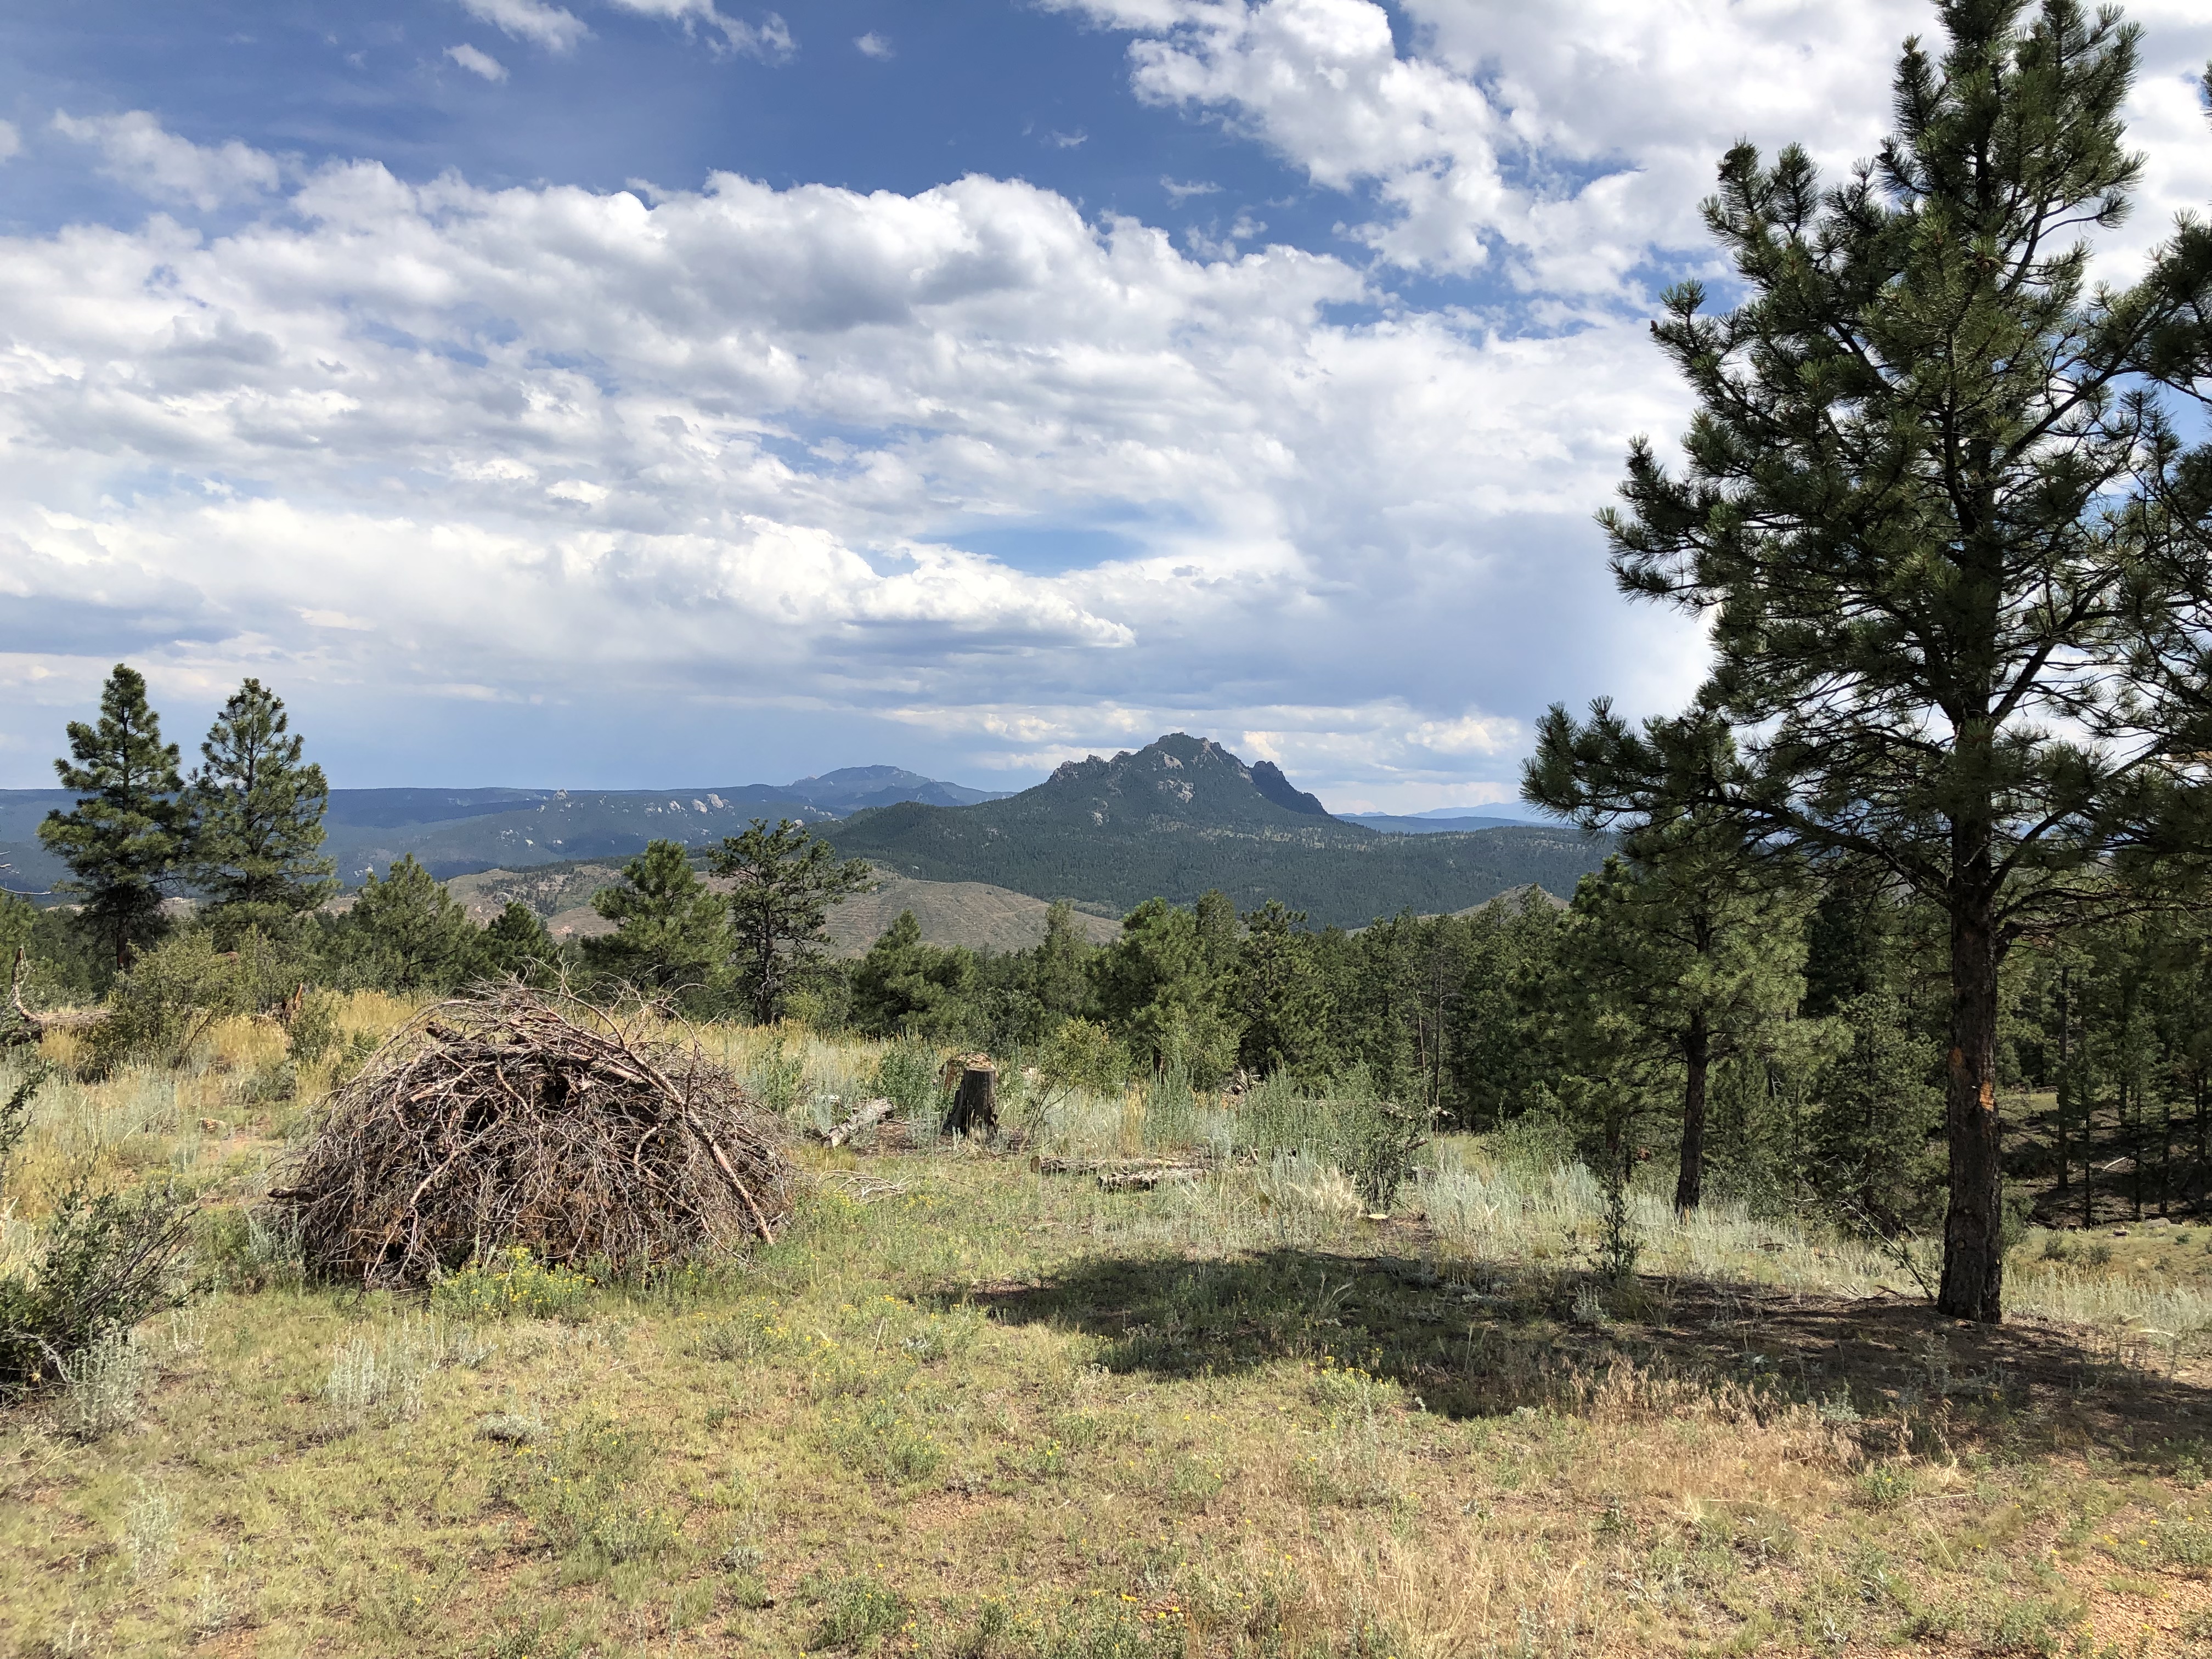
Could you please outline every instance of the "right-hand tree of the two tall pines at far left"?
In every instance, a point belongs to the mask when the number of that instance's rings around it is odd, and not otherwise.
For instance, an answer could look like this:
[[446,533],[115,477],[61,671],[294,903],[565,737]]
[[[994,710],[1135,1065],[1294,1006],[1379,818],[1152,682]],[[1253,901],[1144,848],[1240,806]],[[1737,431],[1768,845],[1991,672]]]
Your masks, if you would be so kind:
[[294,922],[336,891],[336,865],[319,852],[330,785],[301,748],[283,699],[259,679],[232,692],[199,745],[186,869],[221,945]]

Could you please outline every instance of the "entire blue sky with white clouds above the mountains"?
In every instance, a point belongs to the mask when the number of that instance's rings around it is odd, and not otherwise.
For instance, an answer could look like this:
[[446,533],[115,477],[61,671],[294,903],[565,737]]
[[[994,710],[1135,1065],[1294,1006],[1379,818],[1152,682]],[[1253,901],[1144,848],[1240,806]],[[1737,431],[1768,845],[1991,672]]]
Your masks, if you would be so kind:
[[[2212,206],[2130,7],[2124,276]],[[1918,0],[55,0],[0,18],[0,787],[142,668],[341,787],[1168,730],[1334,810],[1677,708],[1593,513],[1739,137],[1878,144]]]

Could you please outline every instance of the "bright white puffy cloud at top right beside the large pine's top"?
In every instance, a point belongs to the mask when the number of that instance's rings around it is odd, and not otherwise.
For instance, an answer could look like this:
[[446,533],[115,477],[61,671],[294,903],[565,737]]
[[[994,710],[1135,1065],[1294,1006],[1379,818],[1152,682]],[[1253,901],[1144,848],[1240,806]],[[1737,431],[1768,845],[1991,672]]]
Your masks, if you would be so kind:
[[[1498,268],[1533,294],[1641,303],[1655,259],[1701,257],[1697,204],[1734,139],[1869,155],[1889,64],[1933,33],[1924,0],[1046,0],[1126,29],[1130,84],[1212,115],[1332,190],[1371,190],[1356,234],[1394,265]],[[2181,104],[2212,20],[2132,9],[2150,73],[2137,119]],[[2194,146],[2203,155],[2203,144]],[[2141,219],[2190,197],[2154,177]],[[2201,197],[2199,197],[2201,199]]]

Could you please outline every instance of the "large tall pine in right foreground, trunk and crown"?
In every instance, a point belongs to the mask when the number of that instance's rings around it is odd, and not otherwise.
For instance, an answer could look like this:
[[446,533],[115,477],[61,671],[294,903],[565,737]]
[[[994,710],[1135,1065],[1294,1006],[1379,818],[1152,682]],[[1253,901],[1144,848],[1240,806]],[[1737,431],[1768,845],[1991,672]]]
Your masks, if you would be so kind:
[[[1604,515],[1630,595],[1712,617],[1699,706],[1745,734],[1712,792],[1750,834],[1860,856],[1949,918],[1949,1210],[1938,1305],[2002,1316],[1997,969],[2022,929],[2106,902],[2084,878],[2172,816],[2201,757],[2126,695],[2203,566],[2161,502],[2185,471],[2148,378],[2205,369],[2212,232],[2090,288],[2141,159],[2119,108],[2137,31],[2075,0],[1944,0],[1907,42],[1896,135],[1836,188],[1747,144],[1705,206],[1745,299],[1666,296],[1686,469],[1628,456]],[[2192,564],[2194,562],[2194,564]],[[2146,617],[2150,622],[2146,622]],[[1666,757],[1608,710],[1546,739],[1641,812]],[[2146,810],[2148,803],[2148,810]]]

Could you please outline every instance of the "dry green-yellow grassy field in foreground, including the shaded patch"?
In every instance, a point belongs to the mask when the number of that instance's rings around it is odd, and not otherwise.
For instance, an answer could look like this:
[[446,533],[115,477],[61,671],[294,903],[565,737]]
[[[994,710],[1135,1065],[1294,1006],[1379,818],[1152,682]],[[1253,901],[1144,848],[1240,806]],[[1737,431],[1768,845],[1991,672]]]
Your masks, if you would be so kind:
[[[878,1060],[703,1035],[794,1121]],[[1984,1332],[1644,1197],[1617,1283],[1588,1175],[1482,1144],[1383,1219],[1281,1148],[1106,1192],[1033,1155],[1234,1110],[1068,1097],[1022,1150],[794,1146],[743,1263],[398,1301],[221,1210],[325,1082],[239,1022],[40,1093],[0,1252],[69,1170],[168,1172],[226,1287],[0,1413],[0,1650],[2212,1652],[2212,1228],[2031,1234]]]

